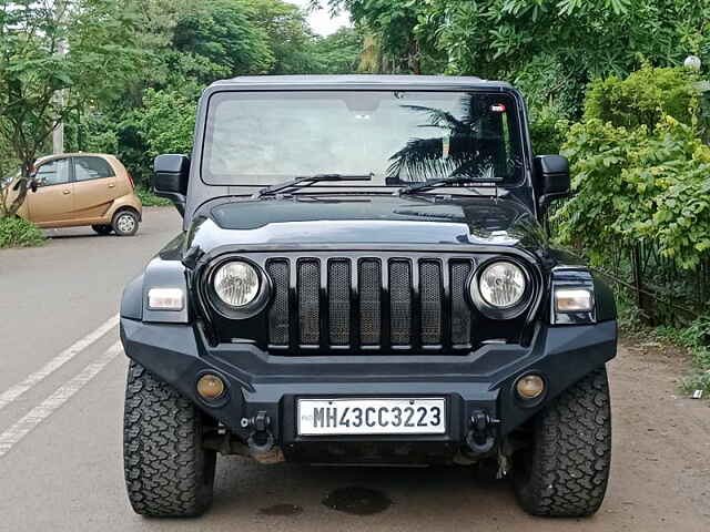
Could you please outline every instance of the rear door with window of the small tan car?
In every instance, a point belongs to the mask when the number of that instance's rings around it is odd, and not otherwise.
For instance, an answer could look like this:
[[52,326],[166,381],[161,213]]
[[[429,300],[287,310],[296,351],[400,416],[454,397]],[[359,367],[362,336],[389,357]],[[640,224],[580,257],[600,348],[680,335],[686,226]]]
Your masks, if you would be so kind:
[[102,223],[116,198],[116,177],[109,162],[95,155],[72,157],[74,164],[74,217],[78,223]]

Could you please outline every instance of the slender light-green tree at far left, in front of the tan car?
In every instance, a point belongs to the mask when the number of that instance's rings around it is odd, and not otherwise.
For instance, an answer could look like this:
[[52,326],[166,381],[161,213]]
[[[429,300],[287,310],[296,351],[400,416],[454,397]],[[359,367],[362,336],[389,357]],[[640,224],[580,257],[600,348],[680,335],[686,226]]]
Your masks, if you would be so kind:
[[126,44],[131,30],[108,0],[77,0],[71,9],[63,1],[0,0],[0,142],[21,172],[7,215],[24,202],[34,161],[57,124],[83,101],[114,93],[140,63]]

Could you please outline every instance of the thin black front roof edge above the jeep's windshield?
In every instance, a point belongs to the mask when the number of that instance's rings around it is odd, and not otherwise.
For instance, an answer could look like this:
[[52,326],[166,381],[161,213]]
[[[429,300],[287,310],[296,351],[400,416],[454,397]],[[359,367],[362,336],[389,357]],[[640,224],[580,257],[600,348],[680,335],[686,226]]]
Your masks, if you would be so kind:
[[402,89],[412,90],[450,90],[450,89],[484,89],[510,90],[513,86],[505,81],[488,81],[475,76],[453,75],[379,75],[379,74],[348,74],[348,75],[246,75],[221,80],[212,83],[211,89],[236,90],[273,90],[273,89]]

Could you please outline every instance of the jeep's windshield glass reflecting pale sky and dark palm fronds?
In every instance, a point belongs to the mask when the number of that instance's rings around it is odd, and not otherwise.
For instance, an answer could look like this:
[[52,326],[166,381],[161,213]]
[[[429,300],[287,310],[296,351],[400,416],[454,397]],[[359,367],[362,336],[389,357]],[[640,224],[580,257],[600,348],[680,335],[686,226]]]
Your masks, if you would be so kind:
[[[320,173],[402,186],[449,175],[523,180],[513,98],[480,92],[221,92],[210,99],[202,178],[268,185]],[[321,184],[318,184],[321,186]]]

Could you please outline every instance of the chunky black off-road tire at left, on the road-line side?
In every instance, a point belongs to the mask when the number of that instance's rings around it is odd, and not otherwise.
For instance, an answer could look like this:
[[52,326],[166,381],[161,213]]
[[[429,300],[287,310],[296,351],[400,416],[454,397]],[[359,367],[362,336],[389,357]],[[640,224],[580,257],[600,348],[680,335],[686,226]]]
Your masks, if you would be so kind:
[[202,446],[201,412],[131,362],[123,417],[129,500],[148,516],[195,516],[212,503],[216,453]]

